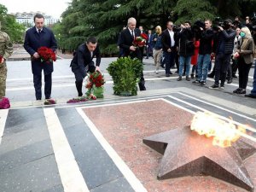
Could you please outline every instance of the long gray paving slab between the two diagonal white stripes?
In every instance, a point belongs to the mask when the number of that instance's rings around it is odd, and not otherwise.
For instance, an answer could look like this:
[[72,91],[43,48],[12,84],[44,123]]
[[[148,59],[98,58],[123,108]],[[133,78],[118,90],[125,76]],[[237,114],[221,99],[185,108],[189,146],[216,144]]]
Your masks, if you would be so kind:
[[[89,189],[122,177],[122,173],[98,143],[89,127],[81,121],[75,109],[58,108],[56,113],[60,114],[61,125]],[[63,115],[64,113],[66,115]],[[78,123],[72,125],[68,124],[68,121]]]

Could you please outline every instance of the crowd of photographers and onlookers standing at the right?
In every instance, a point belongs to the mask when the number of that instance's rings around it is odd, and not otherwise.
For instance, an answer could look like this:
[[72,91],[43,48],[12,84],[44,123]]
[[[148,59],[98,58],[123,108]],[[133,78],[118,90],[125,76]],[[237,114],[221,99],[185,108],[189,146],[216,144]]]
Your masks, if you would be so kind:
[[[126,31],[131,30],[129,22]],[[139,32],[143,33],[143,26],[139,26]],[[119,56],[131,55],[136,52],[126,48],[120,43],[122,32],[119,35],[118,45]],[[156,74],[160,67],[165,68],[166,77],[172,75],[171,68],[177,66],[177,81],[190,81],[193,84],[207,85],[207,78],[213,78],[214,84],[208,86],[209,89],[224,90],[224,84],[232,83],[233,78],[239,74],[239,87],[233,92],[245,94],[248,97],[256,97],[256,79],[254,72],[253,90],[247,93],[248,75],[253,66],[256,44],[256,18],[253,21],[246,17],[244,23],[235,20],[197,20],[193,25],[190,21],[185,21],[180,26],[175,26],[172,21],[166,23],[166,29],[161,26],[154,28],[154,34],[148,30],[147,44],[145,45],[146,59],[149,56],[154,58]],[[127,33],[127,35],[130,35]],[[132,37],[132,35],[130,35]],[[124,54],[124,49],[126,53]],[[143,58],[143,48],[140,48],[140,59]],[[212,69],[212,61],[214,67]],[[190,70],[191,65],[192,70]],[[212,73],[210,72],[212,69]],[[254,67],[255,69],[255,67]],[[191,71],[191,72],[190,72]]]

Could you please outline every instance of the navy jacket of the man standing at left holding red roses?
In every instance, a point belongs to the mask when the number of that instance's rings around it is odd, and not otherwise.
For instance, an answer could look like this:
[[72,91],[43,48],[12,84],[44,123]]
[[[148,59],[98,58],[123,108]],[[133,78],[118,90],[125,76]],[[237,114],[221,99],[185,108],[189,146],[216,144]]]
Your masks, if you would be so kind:
[[[44,27],[42,32],[38,34],[35,26],[26,31],[24,48],[32,56],[38,51],[40,47],[48,47],[55,51],[57,49],[56,39],[54,33],[47,27]],[[35,59],[32,56],[32,73],[35,75],[41,75],[42,69],[44,75],[53,72],[52,62],[41,62],[41,59]]]

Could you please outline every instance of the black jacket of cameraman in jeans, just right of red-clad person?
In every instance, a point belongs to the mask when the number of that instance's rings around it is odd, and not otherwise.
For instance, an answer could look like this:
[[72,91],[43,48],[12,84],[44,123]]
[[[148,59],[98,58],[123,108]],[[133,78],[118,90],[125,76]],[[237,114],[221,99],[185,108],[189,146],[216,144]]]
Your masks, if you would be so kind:
[[207,29],[206,31],[201,32],[200,36],[200,46],[199,54],[206,55],[212,53],[212,39],[213,39],[212,29]]

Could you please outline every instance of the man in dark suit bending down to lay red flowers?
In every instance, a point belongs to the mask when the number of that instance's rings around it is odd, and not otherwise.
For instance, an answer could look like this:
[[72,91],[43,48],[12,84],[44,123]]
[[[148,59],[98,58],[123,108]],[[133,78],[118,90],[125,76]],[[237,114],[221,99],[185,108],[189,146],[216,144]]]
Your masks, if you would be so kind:
[[[96,66],[94,64],[93,58],[96,56]],[[87,39],[85,44],[79,45],[76,54],[71,61],[70,67],[75,75],[76,87],[79,96],[83,96],[82,86],[83,80],[87,72],[93,73],[95,71],[100,71],[101,63],[101,53],[99,45],[95,37],[90,37]]]

